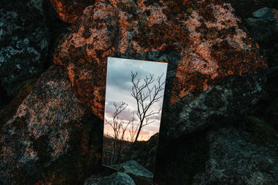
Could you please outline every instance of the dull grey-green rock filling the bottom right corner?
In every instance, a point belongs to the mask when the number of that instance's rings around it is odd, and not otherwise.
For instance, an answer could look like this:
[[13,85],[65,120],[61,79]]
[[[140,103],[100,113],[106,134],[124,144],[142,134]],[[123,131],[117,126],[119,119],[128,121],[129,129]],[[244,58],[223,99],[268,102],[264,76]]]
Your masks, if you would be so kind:
[[233,127],[209,132],[206,172],[196,176],[195,184],[278,184],[277,150],[248,138],[249,134],[240,134]]

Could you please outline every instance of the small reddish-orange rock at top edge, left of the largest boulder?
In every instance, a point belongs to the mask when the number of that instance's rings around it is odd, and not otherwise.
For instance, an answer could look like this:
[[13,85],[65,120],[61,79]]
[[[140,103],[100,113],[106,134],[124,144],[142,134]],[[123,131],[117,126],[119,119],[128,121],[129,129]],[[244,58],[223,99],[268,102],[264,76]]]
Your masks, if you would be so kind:
[[83,10],[94,3],[94,0],[50,0],[60,19],[66,23],[74,23]]

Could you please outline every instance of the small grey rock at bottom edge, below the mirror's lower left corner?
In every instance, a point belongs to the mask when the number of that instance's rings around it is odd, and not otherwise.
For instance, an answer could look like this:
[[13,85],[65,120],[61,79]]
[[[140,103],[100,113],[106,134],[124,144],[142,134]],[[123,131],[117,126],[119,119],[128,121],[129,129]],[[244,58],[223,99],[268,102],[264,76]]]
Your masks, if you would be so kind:
[[135,182],[129,175],[126,173],[114,173],[111,176],[108,177],[100,177],[100,178],[95,178],[95,179],[88,179],[84,185],[135,185]]

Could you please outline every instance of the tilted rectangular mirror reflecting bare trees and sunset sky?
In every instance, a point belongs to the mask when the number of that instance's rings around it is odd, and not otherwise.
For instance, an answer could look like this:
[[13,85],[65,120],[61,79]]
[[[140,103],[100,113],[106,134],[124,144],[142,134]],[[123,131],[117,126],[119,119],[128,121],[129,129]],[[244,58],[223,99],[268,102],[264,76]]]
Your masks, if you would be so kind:
[[166,72],[164,62],[108,58],[104,166],[128,164],[145,172],[138,176],[152,179]]

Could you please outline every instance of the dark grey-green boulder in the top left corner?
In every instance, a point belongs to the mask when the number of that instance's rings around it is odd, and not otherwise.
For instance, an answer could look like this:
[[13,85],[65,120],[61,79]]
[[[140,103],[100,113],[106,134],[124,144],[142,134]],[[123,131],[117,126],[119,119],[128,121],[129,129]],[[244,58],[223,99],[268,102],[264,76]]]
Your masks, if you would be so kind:
[[0,81],[13,96],[20,82],[44,70],[50,35],[42,0],[4,1],[0,9]]

